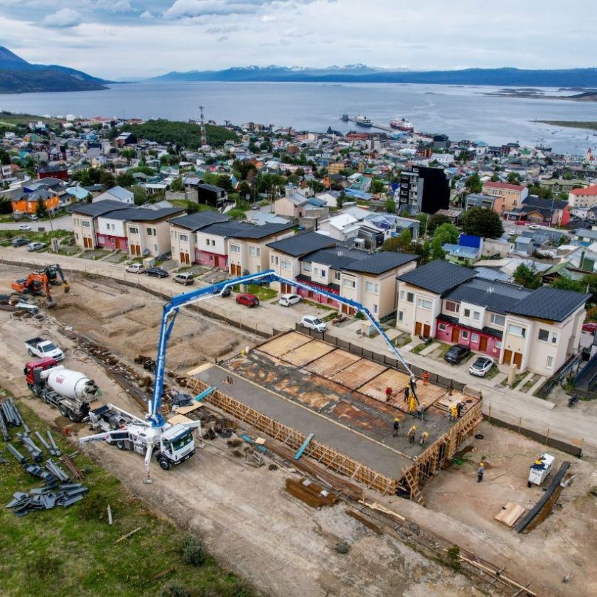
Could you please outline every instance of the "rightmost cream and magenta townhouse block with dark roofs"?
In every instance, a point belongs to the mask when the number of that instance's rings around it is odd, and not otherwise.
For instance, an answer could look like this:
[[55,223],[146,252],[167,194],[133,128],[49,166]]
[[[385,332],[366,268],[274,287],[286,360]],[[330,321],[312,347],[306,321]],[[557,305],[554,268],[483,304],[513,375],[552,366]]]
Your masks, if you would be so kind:
[[396,326],[404,332],[548,377],[579,351],[589,294],[479,279],[473,269],[441,260],[398,280]]

